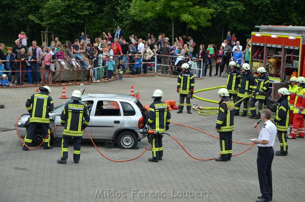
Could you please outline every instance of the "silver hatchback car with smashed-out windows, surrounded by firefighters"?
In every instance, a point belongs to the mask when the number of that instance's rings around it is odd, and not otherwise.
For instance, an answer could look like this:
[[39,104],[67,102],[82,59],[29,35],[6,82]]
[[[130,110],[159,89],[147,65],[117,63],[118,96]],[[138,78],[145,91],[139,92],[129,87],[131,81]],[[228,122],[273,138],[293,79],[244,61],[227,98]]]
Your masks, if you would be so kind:
[[[93,103],[90,113],[90,122],[86,128],[92,139],[106,140],[106,142],[117,141],[122,149],[131,149],[137,146],[138,140],[144,138],[143,134],[136,132],[144,128],[147,121],[148,111],[142,106],[140,101],[133,96],[119,94],[85,94],[81,101]],[[60,106],[56,106],[50,115],[50,130],[60,125],[60,115],[64,106],[72,102],[69,100]],[[23,114],[18,121],[20,136],[24,138],[26,134],[25,122],[30,117]],[[15,126],[16,129],[16,126]],[[53,146],[59,146],[63,135],[64,127],[55,129],[51,134]],[[41,130],[34,134],[33,142],[40,144],[43,140]],[[89,139],[83,131],[83,138]],[[108,140],[108,141],[107,141]]]

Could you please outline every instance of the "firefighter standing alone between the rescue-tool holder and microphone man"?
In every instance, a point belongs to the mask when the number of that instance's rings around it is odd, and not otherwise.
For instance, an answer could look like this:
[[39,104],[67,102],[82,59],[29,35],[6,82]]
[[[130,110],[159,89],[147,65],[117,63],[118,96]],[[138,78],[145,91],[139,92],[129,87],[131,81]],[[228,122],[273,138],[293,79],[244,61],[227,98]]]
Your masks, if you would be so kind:
[[232,157],[232,131],[234,130],[234,102],[225,88],[219,89],[217,94],[221,99],[216,122],[221,156],[215,161],[230,161]]

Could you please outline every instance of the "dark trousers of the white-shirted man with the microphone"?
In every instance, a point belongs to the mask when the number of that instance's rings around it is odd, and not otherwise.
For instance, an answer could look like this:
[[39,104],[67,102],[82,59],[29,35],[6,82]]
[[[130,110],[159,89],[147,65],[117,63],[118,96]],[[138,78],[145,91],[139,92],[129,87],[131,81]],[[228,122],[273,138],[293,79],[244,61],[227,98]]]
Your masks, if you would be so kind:
[[274,157],[272,147],[259,147],[257,151],[257,174],[260,182],[262,198],[272,199],[272,171],[271,165]]

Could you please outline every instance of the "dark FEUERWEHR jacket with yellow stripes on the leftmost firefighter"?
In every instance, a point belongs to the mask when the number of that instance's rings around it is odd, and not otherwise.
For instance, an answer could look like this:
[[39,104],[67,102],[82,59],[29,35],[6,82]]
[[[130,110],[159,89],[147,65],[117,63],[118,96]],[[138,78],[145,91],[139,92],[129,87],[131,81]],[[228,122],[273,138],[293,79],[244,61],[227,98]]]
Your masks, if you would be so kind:
[[25,106],[30,113],[30,123],[50,123],[49,112],[54,109],[54,105],[51,96],[46,92],[33,94],[27,99]]

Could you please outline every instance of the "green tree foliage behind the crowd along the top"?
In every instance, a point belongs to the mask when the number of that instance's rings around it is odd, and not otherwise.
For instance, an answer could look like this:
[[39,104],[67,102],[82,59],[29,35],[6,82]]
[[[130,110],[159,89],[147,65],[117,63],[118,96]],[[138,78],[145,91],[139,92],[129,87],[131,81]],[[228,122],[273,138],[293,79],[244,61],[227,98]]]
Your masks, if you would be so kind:
[[24,31],[30,40],[53,31],[60,40],[73,40],[87,28],[91,39],[120,25],[128,38],[147,32],[192,35],[197,44],[219,43],[227,31],[240,41],[255,25],[305,26],[305,1],[298,0],[11,0],[0,1],[0,42],[16,40]]

